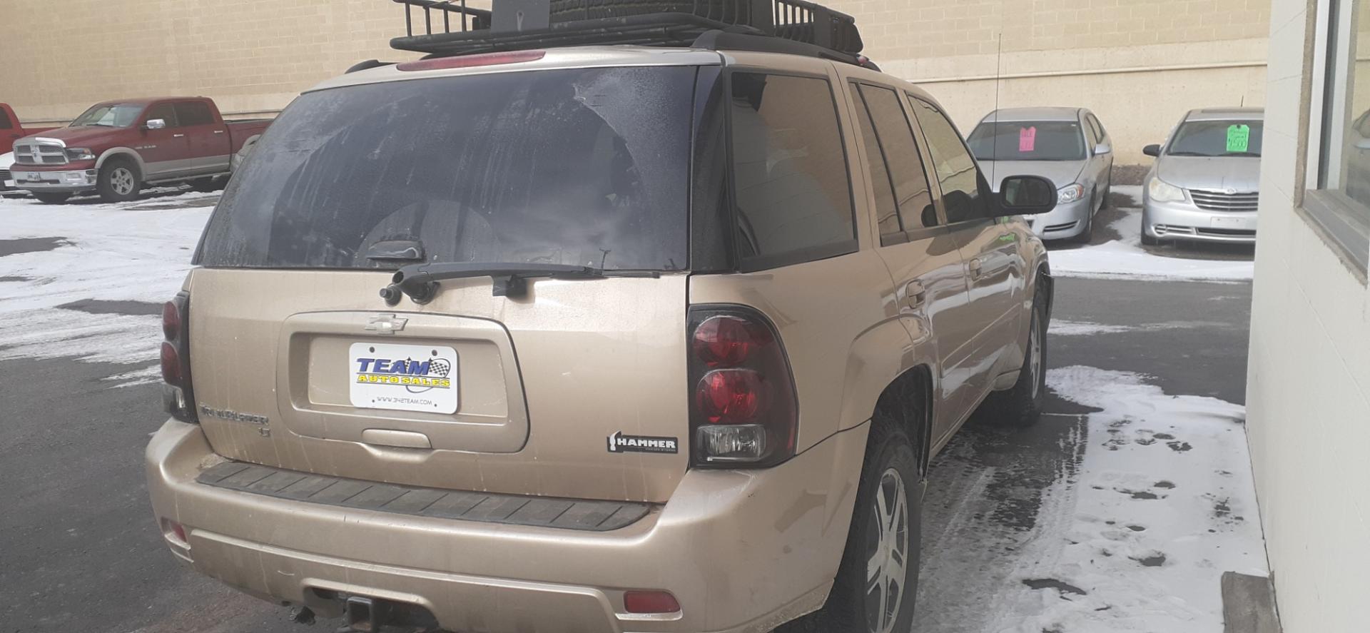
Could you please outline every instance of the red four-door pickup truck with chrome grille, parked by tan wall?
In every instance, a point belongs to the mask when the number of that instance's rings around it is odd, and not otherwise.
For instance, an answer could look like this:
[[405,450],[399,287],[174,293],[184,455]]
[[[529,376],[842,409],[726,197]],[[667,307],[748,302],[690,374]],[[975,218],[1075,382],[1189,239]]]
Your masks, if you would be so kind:
[[14,142],[14,184],[45,203],[95,190],[105,201],[144,185],[211,185],[267,119],[225,122],[214,100],[163,97],[92,106],[71,125]]

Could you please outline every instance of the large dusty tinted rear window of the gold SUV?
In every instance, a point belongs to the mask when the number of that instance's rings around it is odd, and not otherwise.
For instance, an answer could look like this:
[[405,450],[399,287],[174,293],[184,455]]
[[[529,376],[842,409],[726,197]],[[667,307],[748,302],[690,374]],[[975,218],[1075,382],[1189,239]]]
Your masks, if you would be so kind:
[[303,95],[225,190],[197,263],[682,270],[695,74],[540,70]]

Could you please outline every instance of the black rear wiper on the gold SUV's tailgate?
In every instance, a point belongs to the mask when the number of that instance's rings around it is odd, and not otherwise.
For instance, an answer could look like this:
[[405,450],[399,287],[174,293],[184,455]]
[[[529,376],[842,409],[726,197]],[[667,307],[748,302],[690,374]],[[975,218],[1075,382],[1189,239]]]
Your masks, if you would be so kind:
[[385,303],[400,303],[401,295],[408,295],[414,303],[429,303],[437,295],[443,280],[463,280],[467,277],[490,277],[495,280],[492,295],[497,297],[518,297],[527,292],[529,277],[551,277],[553,280],[597,280],[603,277],[660,277],[651,270],[611,270],[593,266],[543,264],[543,263],[421,263],[404,266],[395,271],[390,285],[381,289]]

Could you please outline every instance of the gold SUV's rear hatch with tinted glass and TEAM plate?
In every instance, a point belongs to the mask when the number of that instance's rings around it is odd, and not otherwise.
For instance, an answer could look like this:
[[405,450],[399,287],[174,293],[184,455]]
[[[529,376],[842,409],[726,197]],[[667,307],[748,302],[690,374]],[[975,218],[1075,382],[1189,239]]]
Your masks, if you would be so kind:
[[[299,97],[215,210],[189,282],[214,449],[370,481],[664,501],[686,452],[610,438],[688,429],[699,69],[410,74]],[[401,266],[449,262],[603,275],[379,296]]]

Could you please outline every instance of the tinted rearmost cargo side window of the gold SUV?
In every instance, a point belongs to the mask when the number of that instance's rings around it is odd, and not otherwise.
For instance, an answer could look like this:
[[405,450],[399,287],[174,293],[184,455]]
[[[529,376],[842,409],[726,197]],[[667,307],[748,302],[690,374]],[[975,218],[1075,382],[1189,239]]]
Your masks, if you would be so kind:
[[744,267],[855,251],[847,153],[827,79],[733,73],[730,84]]

